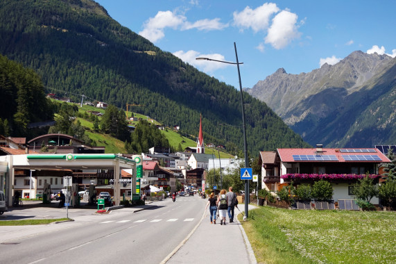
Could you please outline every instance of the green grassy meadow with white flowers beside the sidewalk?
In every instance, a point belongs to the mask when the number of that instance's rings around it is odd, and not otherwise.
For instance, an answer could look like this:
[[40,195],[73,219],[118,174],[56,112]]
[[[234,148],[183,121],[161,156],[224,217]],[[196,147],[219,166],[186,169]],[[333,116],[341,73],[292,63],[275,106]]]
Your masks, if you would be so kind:
[[258,263],[396,263],[396,213],[260,207],[242,221]]

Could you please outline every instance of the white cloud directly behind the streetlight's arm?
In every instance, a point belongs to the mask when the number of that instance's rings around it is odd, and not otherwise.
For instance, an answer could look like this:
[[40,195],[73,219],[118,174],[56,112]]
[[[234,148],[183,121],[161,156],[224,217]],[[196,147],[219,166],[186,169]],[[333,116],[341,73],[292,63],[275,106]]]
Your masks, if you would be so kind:
[[225,60],[224,56],[218,53],[213,54],[200,54],[198,51],[176,51],[173,53],[174,56],[180,58],[184,61],[184,63],[189,63],[189,65],[193,65],[199,69],[203,69],[204,72],[212,74],[216,69],[223,69],[229,66],[226,63],[218,63],[216,61],[208,61],[208,60],[196,60],[196,58],[212,58],[214,60]]

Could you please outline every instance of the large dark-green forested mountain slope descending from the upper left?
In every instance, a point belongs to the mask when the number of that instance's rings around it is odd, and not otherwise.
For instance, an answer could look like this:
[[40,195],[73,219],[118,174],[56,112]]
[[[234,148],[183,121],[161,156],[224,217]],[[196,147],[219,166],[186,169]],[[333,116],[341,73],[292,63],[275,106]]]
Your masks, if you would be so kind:
[[[205,142],[243,147],[237,90],[161,51],[94,1],[1,1],[0,38],[0,53],[35,69],[49,92],[124,109],[142,104],[142,114],[194,135],[202,113]],[[306,145],[266,104],[244,99],[250,152]]]

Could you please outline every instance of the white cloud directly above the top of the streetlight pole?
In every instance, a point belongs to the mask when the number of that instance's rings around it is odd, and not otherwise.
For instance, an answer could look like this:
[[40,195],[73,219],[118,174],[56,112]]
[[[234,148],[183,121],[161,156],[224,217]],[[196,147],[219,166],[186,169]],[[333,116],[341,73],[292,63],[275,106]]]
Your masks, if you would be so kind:
[[265,31],[268,28],[270,16],[278,13],[276,3],[264,3],[256,9],[249,6],[241,12],[234,12],[234,24],[239,28],[252,28],[253,31]]

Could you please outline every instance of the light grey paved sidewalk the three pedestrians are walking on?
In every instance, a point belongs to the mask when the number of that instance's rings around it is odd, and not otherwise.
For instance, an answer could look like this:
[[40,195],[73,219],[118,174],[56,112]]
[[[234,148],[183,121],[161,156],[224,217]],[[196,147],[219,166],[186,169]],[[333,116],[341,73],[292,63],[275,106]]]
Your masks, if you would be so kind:
[[[243,204],[239,206],[242,212],[244,208]],[[249,210],[253,208],[255,206],[249,205]],[[238,209],[235,208],[234,213],[234,222],[227,222],[224,226],[220,224],[220,220],[216,221],[216,224],[211,224],[207,210],[187,240],[162,263],[257,263],[246,233],[236,218],[239,214]]]

